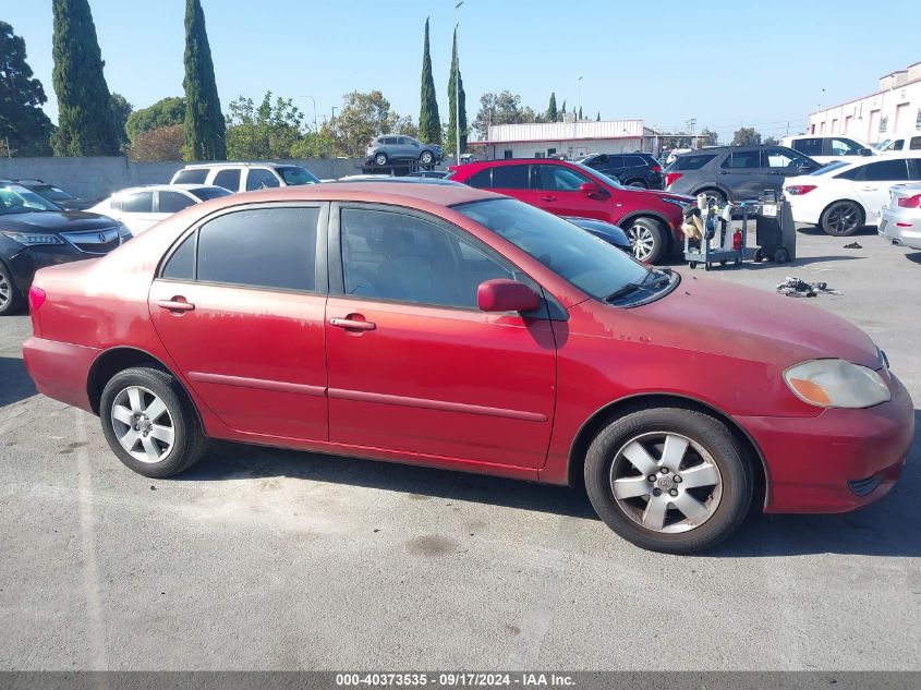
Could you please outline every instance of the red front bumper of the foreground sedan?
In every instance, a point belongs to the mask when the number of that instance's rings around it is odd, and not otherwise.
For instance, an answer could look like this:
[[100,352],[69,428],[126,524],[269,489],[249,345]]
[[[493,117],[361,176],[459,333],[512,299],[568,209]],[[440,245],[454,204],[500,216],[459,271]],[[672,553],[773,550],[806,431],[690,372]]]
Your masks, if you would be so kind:
[[814,417],[736,417],[767,470],[765,512],[847,512],[878,500],[901,474],[914,405],[890,374],[892,400]]

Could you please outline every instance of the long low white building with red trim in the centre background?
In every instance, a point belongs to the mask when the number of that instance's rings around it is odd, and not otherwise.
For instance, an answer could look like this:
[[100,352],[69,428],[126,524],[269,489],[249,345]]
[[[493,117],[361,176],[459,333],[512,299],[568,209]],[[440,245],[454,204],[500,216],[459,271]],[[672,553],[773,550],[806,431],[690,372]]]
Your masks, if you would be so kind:
[[571,160],[589,154],[656,152],[658,148],[656,133],[642,120],[494,124],[485,141],[470,144],[485,147],[489,160],[550,156]]

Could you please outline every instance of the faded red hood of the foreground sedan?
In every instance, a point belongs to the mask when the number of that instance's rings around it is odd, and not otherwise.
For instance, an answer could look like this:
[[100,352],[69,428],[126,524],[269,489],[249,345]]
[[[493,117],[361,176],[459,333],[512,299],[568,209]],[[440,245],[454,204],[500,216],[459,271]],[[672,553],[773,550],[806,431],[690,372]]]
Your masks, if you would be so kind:
[[[637,337],[682,351],[719,354],[786,368],[839,358],[880,368],[873,340],[853,324],[779,294],[715,279],[684,277],[670,294],[631,310]],[[611,316],[618,322],[617,314]],[[625,324],[615,326],[621,331]],[[641,332],[640,332],[641,331]]]

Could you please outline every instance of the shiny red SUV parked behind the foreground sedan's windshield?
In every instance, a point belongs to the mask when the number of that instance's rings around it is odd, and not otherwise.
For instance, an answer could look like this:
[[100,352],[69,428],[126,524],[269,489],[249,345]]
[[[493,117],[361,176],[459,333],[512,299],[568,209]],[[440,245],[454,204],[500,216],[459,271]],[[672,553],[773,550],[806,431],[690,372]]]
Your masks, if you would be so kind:
[[627,232],[633,255],[654,264],[684,241],[682,211],[694,198],[622,186],[578,162],[547,158],[486,160],[450,168],[450,179],[507,194],[555,216],[596,218]]

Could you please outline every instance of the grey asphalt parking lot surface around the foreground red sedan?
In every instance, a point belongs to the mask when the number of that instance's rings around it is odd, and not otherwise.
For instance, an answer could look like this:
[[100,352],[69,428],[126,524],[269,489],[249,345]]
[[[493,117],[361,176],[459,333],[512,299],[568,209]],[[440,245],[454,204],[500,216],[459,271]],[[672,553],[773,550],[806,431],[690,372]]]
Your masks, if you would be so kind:
[[[799,254],[706,276],[826,281],[811,302],[921,408],[921,252],[807,231]],[[860,512],[663,556],[566,488],[231,444],[144,479],[35,394],[28,332],[0,320],[2,670],[921,668],[921,441]]]

